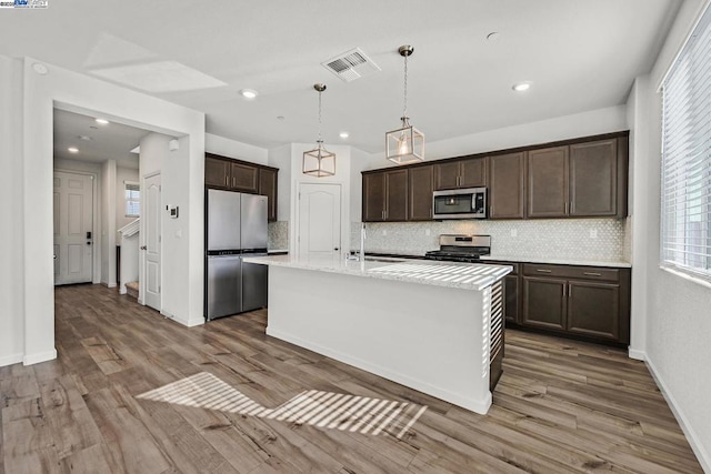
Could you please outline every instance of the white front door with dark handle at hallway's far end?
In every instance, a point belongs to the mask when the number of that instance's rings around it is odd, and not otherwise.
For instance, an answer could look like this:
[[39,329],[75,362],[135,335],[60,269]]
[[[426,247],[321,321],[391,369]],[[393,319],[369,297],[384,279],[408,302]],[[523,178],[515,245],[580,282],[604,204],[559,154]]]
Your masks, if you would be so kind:
[[54,284],[92,280],[93,177],[54,171]]

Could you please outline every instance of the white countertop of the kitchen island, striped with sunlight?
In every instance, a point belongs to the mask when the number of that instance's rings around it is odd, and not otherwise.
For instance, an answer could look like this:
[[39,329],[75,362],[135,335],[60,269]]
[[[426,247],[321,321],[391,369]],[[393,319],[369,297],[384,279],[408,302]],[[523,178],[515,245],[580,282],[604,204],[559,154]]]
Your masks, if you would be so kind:
[[475,291],[491,286],[512,271],[507,265],[392,258],[367,258],[359,262],[340,255],[301,259],[294,255],[250,256],[244,262]]

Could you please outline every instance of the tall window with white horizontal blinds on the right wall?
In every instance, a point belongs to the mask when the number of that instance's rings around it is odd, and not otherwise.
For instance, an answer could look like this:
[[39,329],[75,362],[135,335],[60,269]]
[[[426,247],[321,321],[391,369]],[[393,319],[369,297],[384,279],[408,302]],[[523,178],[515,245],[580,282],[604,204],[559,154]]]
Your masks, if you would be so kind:
[[662,265],[711,281],[711,9],[662,84]]

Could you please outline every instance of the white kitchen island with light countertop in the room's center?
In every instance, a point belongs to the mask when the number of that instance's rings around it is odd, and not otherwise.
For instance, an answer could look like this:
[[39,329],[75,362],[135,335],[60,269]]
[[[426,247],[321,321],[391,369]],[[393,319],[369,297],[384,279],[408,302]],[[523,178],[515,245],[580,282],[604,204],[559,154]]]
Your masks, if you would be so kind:
[[473,412],[489,410],[503,356],[501,280],[510,266],[293,255],[244,261],[270,266],[268,335]]

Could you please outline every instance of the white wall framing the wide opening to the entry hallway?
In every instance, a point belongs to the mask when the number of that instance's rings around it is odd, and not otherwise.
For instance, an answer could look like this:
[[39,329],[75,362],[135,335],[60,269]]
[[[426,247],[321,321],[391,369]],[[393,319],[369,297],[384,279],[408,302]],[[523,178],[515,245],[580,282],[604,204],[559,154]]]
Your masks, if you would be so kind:
[[[9,245],[20,254],[20,261],[16,262],[19,264],[11,268],[23,271],[11,279],[3,275],[9,281],[0,285],[2,296],[11,296],[9,303],[0,297],[3,301],[0,304],[8,306],[8,311],[0,313],[0,327],[10,330],[3,331],[1,337],[24,341],[22,346],[9,345],[11,349],[2,344],[0,357],[6,352],[16,357],[18,349],[26,364],[57,356],[52,264],[52,110],[56,105],[79,113],[97,111],[109,120],[143,129],[190,135],[188,158],[177,164],[184,173],[178,185],[187,203],[184,238],[189,244],[187,252],[171,258],[187,262],[191,273],[169,275],[163,283],[183,295],[187,304],[180,307],[180,315],[184,321],[202,320],[202,283],[193,284],[193,281],[202,281],[204,114],[52,64],[47,64],[47,74],[38,74],[32,69],[33,62],[31,58],[24,58],[20,64],[6,58],[0,61],[0,74],[8,79],[0,83],[0,97],[10,98],[3,103],[18,104],[10,114],[4,107],[0,112],[0,117],[6,117],[6,124],[0,127],[0,143],[8,149],[6,157],[12,161],[3,180],[14,180],[11,189],[16,203],[11,211],[3,210],[1,216],[7,218],[3,222],[16,225],[11,244],[23,242]],[[13,81],[13,74],[19,79]],[[14,143],[17,138],[19,144]],[[18,208],[21,209],[19,218]],[[16,256],[9,256],[7,261],[16,261]],[[23,331],[16,317],[20,319]]]

